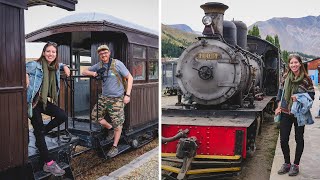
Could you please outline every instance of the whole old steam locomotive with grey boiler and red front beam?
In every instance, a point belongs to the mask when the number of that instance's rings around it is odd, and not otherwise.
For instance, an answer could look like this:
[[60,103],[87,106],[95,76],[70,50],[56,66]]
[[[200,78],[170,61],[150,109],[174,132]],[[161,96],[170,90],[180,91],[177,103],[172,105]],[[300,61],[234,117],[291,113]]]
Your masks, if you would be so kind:
[[279,49],[247,35],[245,23],[224,21],[227,5],[200,7],[203,36],[176,68],[185,101],[162,106],[162,175],[168,179],[239,174],[279,86]]

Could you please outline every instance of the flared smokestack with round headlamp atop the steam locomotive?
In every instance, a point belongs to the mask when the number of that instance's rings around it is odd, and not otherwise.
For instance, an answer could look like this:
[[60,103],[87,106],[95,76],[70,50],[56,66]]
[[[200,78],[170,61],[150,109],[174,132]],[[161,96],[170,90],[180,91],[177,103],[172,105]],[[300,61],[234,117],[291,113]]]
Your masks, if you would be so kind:
[[202,34],[212,36],[217,33],[223,36],[223,15],[229,7],[218,2],[208,2],[200,7],[205,13],[205,16],[202,18],[202,22],[205,25]]

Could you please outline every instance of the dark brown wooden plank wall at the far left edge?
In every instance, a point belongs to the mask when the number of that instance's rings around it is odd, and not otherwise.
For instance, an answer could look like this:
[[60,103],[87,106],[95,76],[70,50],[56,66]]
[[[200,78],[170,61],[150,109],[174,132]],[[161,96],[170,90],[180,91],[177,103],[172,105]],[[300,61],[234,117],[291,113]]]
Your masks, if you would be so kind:
[[0,171],[28,159],[24,9],[0,3]]

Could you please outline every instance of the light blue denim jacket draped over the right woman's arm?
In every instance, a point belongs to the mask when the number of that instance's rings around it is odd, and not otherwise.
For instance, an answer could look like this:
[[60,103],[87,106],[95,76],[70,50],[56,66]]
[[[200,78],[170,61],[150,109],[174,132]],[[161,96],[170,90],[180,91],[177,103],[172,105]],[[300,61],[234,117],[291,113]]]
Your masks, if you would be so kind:
[[297,97],[297,101],[293,102],[291,113],[297,118],[298,126],[313,124],[314,121],[310,112],[313,100],[308,93],[299,93],[294,95]]

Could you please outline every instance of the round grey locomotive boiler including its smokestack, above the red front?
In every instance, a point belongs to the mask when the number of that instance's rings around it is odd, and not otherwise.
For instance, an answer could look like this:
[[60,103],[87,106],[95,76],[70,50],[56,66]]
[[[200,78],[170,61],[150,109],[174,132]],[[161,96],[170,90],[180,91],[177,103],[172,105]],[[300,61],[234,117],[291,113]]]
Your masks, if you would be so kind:
[[[203,37],[180,56],[177,78],[184,97],[202,105],[243,106],[243,96],[262,86],[263,60],[245,50],[246,25],[223,21],[228,6],[206,3]],[[237,26],[242,29],[237,31]],[[244,41],[241,46],[237,42]]]

